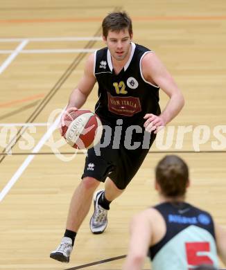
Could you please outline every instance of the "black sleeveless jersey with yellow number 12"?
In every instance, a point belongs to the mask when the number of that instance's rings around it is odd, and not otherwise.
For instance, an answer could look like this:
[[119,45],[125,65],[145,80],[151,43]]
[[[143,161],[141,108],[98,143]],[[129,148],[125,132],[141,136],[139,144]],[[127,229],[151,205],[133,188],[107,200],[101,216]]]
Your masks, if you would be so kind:
[[141,60],[150,53],[148,48],[132,43],[128,62],[119,74],[114,73],[108,48],[96,51],[94,75],[98,82],[96,114],[114,124],[143,125],[144,115],[160,114],[159,87],[147,82],[141,72]]

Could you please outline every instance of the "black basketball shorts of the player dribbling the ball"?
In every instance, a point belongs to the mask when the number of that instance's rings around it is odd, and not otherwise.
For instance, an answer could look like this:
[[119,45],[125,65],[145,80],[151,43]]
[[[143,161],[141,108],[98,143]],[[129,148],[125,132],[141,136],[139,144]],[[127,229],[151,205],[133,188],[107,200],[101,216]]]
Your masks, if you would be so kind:
[[[148,134],[143,130],[143,134],[134,134],[129,143],[125,142],[125,137],[120,143],[113,143],[112,137],[109,145],[100,147],[99,144],[89,149],[82,179],[93,177],[105,182],[105,179],[110,177],[117,188],[125,189],[139,170],[155,137],[156,134]],[[103,143],[103,138],[101,143]]]

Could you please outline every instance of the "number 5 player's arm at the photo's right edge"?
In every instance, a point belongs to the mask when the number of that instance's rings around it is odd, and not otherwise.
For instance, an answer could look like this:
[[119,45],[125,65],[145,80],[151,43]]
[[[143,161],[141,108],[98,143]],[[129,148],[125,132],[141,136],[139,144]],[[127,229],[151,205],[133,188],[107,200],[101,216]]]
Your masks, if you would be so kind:
[[223,263],[226,265],[226,231],[218,224],[214,224],[214,228],[218,255],[223,261]]

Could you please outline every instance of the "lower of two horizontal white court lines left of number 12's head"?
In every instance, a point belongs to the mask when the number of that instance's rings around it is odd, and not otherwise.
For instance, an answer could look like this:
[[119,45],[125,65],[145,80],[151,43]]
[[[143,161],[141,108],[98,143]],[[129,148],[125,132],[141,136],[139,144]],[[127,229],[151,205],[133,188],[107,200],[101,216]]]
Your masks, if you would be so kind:
[[[56,48],[43,50],[21,50],[19,53],[94,53],[98,48]],[[12,50],[1,50],[0,54],[12,53]]]

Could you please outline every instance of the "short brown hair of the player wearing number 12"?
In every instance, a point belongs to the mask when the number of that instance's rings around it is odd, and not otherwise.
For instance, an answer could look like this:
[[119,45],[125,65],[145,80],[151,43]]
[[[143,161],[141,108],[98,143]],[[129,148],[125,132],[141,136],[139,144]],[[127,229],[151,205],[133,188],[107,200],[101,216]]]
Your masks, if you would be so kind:
[[103,36],[107,38],[109,30],[117,31],[128,28],[130,37],[132,35],[132,21],[126,12],[111,12],[102,22]]

